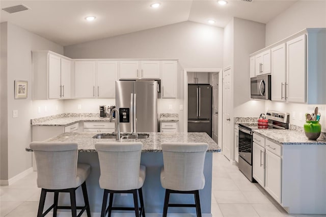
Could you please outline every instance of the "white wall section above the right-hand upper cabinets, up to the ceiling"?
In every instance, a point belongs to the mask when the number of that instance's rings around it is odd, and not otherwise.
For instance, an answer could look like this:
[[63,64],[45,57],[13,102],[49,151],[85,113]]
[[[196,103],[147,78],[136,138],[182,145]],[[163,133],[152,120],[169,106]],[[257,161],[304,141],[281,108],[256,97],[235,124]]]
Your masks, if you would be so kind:
[[326,1],[297,1],[266,23],[266,46],[306,28],[326,28]]

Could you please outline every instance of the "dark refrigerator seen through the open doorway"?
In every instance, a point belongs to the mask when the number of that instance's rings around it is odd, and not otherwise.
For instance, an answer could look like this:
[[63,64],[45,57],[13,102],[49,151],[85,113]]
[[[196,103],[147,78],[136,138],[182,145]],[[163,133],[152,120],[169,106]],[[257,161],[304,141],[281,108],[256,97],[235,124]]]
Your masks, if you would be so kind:
[[188,132],[207,132],[212,137],[210,85],[188,85]]

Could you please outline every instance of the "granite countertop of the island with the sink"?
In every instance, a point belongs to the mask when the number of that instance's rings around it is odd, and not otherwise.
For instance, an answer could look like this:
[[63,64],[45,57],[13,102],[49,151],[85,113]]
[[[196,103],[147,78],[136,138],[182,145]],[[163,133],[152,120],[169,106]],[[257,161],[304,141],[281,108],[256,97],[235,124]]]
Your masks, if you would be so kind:
[[[45,142],[77,142],[79,152],[95,152],[95,143],[97,142],[116,142],[115,139],[93,139],[96,132],[65,132],[57,137],[50,138]],[[112,133],[104,133],[112,134]],[[142,142],[142,152],[161,152],[161,143],[164,142],[184,142],[184,143],[207,143],[207,152],[219,152],[221,148],[205,132],[178,132],[178,133],[160,133],[148,132],[147,139],[122,139],[123,142]],[[33,151],[26,148],[26,151]]]

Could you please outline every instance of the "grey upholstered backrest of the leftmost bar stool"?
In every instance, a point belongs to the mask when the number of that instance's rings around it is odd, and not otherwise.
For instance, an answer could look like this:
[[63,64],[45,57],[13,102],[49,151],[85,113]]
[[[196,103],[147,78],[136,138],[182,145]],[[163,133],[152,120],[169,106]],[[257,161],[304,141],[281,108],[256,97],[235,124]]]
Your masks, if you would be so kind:
[[37,166],[37,186],[65,189],[75,186],[78,145],[73,142],[32,142]]

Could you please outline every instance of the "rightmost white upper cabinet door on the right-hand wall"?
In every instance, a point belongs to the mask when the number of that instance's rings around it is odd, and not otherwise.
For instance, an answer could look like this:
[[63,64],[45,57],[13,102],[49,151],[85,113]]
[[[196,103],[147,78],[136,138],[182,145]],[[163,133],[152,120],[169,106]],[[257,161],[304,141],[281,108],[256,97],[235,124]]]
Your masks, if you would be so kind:
[[306,102],[306,35],[286,42],[286,98]]

